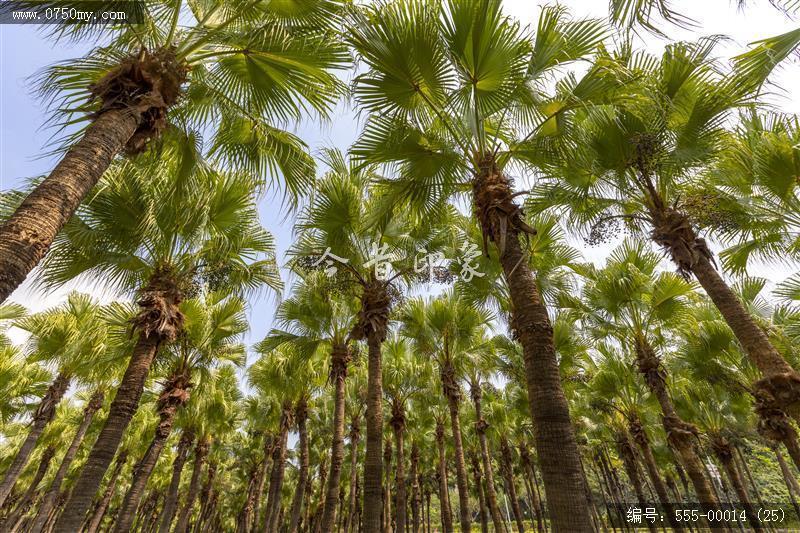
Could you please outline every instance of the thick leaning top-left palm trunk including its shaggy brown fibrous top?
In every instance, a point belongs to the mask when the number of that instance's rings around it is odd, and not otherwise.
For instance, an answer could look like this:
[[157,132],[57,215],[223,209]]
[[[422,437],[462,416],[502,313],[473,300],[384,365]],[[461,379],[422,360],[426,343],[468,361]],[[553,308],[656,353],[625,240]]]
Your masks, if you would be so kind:
[[39,264],[114,157],[140,152],[160,135],[186,73],[171,48],[142,50],[91,87],[101,106],[83,137],[0,224],[0,303]]

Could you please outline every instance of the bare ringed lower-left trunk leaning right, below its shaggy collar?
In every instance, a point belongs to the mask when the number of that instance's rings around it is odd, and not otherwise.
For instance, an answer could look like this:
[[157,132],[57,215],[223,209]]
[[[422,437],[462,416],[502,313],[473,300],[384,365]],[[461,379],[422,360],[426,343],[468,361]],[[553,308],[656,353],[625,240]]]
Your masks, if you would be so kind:
[[83,522],[97,487],[100,486],[106,470],[117,453],[122,435],[139,408],[139,399],[144,390],[144,383],[160,342],[157,335],[139,335],[133,355],[128,362],[128,368],[125,370],[125,375],[111,402],[105,425],[89,452],[80,477],[75,482],[64,513],[56,522],[54,527],[56,532],[73,533]]

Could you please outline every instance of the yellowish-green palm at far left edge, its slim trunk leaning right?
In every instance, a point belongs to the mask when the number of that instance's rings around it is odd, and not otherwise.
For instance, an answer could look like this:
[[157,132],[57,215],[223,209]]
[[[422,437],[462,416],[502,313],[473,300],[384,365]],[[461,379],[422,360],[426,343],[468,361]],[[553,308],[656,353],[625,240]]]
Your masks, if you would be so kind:
[[58,373],[33,413],[30,431],[0,484],[0,505],[11,493],[45,427],[53,420],[73,378],[88,373],[95,360],[104,355],[106,332],[98,311],[91,298],[72,293],[65,304],[15,323],[31,334],[29,359],[51,362],[57,365]]

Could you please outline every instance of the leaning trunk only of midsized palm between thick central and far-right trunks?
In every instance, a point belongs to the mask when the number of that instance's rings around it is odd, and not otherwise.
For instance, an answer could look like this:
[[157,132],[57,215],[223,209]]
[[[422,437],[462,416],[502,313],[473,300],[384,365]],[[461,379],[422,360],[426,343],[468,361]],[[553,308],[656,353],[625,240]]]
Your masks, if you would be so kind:
[[678,451],[700,504],[707,511],[713,510],[719,505],[719,500],[714,493],[713,486],[706,477],[703,462],[698,457],[695,449],[695,441],[698,435],[697,428],[681,420],[675,411],[672,399],[667,391],[666,376],[661,366],[661,360],[649,341],[643,335],[638,335],[635,339],[634,348],[639,372],[644,376],[648,389],[656,397],[661,407],[667,440]]

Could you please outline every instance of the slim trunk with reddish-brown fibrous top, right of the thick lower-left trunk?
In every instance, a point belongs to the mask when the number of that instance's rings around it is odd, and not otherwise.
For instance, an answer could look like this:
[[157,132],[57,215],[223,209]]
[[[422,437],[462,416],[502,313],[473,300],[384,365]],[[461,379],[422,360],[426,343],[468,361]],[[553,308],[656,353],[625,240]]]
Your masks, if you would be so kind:
[[144,496],[144,490],[150,474],[156,466],[161,451],[167,443],[167,439],[172,433],[172,426],[175,422],[175,415],[178,409],[189,400],[189,389],[192,384],[188,369],[180,369],[173,373],[156,401],[159,422],[153,435],[153,440],[147,448],[142,459],[133,467],[131,485],[122,501],[117,522],[114,525],[115,533],[124,533],[131,528],[133,519],[136,516],[136,509]]

